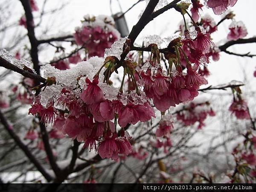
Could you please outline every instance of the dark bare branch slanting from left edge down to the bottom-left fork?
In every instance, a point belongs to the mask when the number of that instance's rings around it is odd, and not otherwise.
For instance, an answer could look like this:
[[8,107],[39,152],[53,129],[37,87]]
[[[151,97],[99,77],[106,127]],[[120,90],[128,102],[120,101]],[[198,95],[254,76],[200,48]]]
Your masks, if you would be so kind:
[[3,113],[1,111],[0,111],[0,120],[1,120],[4,128],[6,129],[6,131],[8,131],[8,133],[13,138],[13,140],[15,140],[15,143],[26,154],[26,157],[29,158],[29,160],[35,165],[35,167],[38,169],[38,171],[41,172],[41,174],[46,178],[47,181],[52,180],[51,175],[49,175],[49,173],[46,172],[44,167],[38,162],[38,160],[35,158],[35,156],[29,151],[29,148],[20,140],[20,137],[18,137],[15,134],[15,131],[12,130],[12,126],[9,125],[9,123],[7,122],[7,119],[5,118],[5,116],[3,115]]

